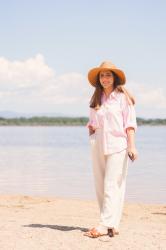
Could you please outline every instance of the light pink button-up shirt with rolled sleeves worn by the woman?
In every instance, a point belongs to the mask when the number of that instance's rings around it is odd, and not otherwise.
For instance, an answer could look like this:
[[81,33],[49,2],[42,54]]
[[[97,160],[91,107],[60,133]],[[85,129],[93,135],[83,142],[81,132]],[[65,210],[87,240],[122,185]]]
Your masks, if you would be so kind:
[[129,104],[124,93],[113,91],[107,98],[103,92],[100,109],[90,108],[87,127],[102,129],[104,154],[113,154],[127,148],[126,128],[136,131],[136,113],[134,105]]

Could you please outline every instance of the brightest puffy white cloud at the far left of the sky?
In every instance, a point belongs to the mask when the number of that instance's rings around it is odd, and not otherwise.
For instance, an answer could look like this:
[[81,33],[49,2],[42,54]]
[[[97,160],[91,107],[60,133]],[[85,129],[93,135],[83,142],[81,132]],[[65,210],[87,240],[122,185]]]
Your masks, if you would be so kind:
[[4,91],[37,86],[54,78],[54,70],[46,65],[41,54],[25,61],[0,58],[0,88]]

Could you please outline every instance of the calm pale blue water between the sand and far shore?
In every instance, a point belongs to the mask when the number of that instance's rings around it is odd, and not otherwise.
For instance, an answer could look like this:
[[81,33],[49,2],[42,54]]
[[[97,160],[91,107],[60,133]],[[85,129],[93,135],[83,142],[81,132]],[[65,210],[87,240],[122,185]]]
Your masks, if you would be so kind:
[[[166,127],[141,126],[126,201],[166,203]],[[0,127],[0,194],[96,199],[85,127]]]

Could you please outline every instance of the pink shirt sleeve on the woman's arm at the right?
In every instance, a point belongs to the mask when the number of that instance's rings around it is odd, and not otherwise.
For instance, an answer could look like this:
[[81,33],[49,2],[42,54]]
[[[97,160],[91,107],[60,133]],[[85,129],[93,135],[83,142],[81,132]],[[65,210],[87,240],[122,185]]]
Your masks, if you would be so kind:
[[123,96],[122,100],[122,113],[123,113],[123,122],[124,129],[126,130],[129,127],[137,130],[137,120],[136,120],[136,112],[133,104],[129,104],[126,96]]

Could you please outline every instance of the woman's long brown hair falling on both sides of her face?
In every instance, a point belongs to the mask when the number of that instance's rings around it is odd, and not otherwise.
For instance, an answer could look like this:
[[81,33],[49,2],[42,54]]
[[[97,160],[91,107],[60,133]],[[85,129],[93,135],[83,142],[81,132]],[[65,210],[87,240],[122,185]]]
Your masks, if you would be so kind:
[[[128,90],[121,85],[121,82],[120,82],[120,79],[119,77],[113,72],[113,77],[114,77],[114,89],[115,91],[117,92],[122,92],[125,94],[125,96],[127,97],[127,101],[130,105],[134,105],[135,104],[135,99],[134,97],[128,92]],[[101,85],[100,83],[100,80],[99,80],[99,74],[98,74],[98,77],[97,77],[97,82],[96,82],[96,85],[95,85],[95,91],[91,97],[91,100],[90,100],[90,107],[91,108],[94,108],[94,109],[99,109],[100,106],[101,106],[101,96],[102,96],[102,93],[104,91],[104,88],[103,86]]]

